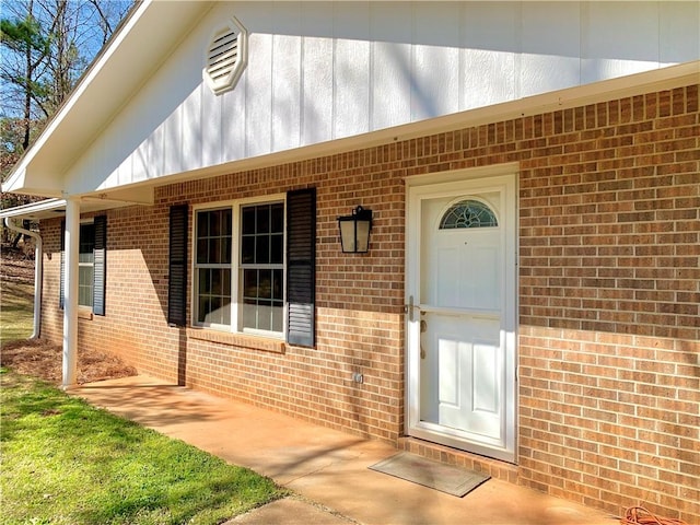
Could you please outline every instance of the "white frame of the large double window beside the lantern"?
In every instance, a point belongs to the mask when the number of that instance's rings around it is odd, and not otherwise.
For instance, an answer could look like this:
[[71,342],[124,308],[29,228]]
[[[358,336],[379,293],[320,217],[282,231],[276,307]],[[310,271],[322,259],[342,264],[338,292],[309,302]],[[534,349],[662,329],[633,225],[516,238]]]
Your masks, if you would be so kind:
[[[247,206],[259,206],[259,205],[273,205],[273,203],[282,203],[283,205],[283,213],[284,213],[284,225],[283,225],[283,243],[282,243],[282,276],[284,280],[284,287],[282,290],[283,294],[283,308],[282,315],[283,319],[287,319],[287,194],[275,194],[267,195],[261,197],[253,197],[246,199],[234,199],[234,200],[225,200],[218,202],[206,202],[201,205],[195,205],[192,207],[192,241],[191,241],[191,295],[190,295],[190,325],[196,328],[208,328],[214,329],[219,331],[226,331],[232,334],[246,334],[246,335],[255,335],[262,336],[271,339],[280,339],[284,340],[287,338],[287,323],[282,323],[282,331],[269,331],[269,330],[258,330],[242,328],[242,319],[243,319],[243,308],[242,305],[242,270],[241,266],[241,213],[242,209]],[[197,265],[197,214],[201,211],[215,211],[221,209],[230,208],[232,210],[231,213],[231,325],[221,325],[221,324],[207,324],[199,323],[197,319],[199,318],[199,275],[198,269],[200,268]],[[278,265],[275,265],[277,268]]]

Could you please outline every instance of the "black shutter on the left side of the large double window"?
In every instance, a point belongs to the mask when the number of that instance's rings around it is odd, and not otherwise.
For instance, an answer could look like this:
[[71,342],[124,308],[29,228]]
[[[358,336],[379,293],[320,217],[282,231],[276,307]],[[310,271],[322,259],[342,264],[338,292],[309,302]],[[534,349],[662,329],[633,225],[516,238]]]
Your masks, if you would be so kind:
[[171,207],[167,323],[187,324],[187,205]]

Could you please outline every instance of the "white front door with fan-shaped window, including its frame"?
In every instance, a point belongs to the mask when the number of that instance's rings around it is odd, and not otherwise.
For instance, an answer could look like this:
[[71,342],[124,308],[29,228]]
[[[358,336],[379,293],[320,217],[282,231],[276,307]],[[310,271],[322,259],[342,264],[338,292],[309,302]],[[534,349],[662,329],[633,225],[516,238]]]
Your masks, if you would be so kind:
[[407,431],[514,462],[515,175],[443,177],[408,182]]

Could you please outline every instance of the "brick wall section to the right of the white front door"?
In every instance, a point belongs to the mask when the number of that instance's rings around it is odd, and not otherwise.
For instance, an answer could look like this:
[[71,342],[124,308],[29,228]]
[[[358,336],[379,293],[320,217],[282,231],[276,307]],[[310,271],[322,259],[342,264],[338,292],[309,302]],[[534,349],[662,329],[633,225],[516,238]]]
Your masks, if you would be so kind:
[[698,86],[523,127],[521,480],[695,522]]

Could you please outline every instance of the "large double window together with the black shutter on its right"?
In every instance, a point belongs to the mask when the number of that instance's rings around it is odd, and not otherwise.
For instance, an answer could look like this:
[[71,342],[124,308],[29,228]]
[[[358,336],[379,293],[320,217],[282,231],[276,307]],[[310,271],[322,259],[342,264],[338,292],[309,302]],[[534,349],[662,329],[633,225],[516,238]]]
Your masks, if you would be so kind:
[[197,206],[192,221],[192,324],[314,346],[315,189]]

